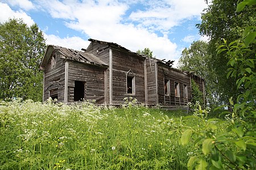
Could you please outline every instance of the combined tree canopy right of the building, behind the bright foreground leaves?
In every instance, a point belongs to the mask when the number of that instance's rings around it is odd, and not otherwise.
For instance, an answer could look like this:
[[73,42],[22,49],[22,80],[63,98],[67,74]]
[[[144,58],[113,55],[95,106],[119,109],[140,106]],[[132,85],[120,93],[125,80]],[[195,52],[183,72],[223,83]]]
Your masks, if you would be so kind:
[[[203,43],[193,42],[191,49],[184,49],[180,60],[183,62],[181,65],[183,69],[195,71],[198,75],[205,77],[208,82],[206,88],[213,92],[211,96],[219,104],[228,104],[229,98],[237,97],[240,90],[236,88],[237,78],[226,77],[229,69],[226,63],[230,58],[224,53],[217,54],[217,48],[222,45],[223,40],[229,44],[240,39],[245,27],[256,25],[255,7],[250,6],[237,12],[236,6],[237,0],[213,0],[201,15],[201,24],[197,24],[200,34],[209,37],[208,44],[205,46]],[[195,53],[195,50],[201,52],[203,49],[207,53],[207,57],[204,57],[204,53]],[[249,49],[251,52],[244,54],[243,57],[255,58],[255,43],[251,43]],[[201,57],[201,61],[198,61],[198,56]],[[185,65],[185,61],[189,61],[189,63]]]

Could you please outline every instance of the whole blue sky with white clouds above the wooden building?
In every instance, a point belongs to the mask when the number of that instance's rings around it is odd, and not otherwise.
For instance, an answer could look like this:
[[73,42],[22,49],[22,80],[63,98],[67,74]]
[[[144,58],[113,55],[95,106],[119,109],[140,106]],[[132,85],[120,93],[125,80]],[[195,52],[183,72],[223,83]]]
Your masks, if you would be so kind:
[[117,43],[132,52],[175,60],[193,41],[205,40],[196,24],[204,0],[0,0],[0,22],[38,24],[47,44],[81,50],[88,39]]

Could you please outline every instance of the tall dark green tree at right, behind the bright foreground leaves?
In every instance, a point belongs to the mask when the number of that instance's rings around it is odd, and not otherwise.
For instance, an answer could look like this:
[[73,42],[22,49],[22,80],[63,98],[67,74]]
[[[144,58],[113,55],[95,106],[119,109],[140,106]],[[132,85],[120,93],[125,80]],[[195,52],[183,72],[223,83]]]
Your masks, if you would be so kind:
[[[201,15],[202,22],[197,24],[201,35],[210,37],[208,45],[209,58],[208,67],[216,76],[216,92],[220,103],[229,103],[229,97],[237,97],[240,90],[236,88],[237,78],[229,76],[229,58],[225,54],[217,55],[217,48],[222,44],[222,40],[227,40],[228,44],[242,36],[243,30],[248,25],[256,25],[256,12],[254,7],[245,8],[241,12],[236,12],[237,0],[213,0],[211,5],[204,10]],[[255,52],[255,44],[250,44],[249,49]],[[254,58],[251,53],[245,54],[245,58]]]

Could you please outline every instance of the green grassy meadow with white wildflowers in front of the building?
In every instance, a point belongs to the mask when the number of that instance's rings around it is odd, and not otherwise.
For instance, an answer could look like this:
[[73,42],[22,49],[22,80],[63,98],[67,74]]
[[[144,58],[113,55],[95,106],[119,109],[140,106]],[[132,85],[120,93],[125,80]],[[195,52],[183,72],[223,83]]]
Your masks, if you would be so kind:
[[[204,130],[200,120],[134,103],[1,101],[0,169],[187,169],[201,143],[180,145],[181,134]],[[225,121],[211,128],[224,133]]]

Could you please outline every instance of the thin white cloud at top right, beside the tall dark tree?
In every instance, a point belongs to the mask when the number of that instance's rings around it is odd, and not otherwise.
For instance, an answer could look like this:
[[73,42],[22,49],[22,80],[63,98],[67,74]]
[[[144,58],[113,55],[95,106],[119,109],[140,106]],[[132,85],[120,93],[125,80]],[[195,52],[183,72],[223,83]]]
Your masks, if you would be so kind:
[[205,7],[207,7],[207,4],[204,0],[156,1],[154,4],[150,4],[149,9],[146,11],[132,12],[130,19],[149,27],[149,29],[168,31],[185,19],[192,19],[195,16],[200,19],[201,11]]

